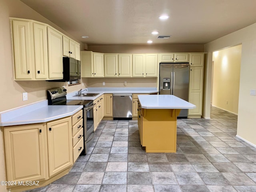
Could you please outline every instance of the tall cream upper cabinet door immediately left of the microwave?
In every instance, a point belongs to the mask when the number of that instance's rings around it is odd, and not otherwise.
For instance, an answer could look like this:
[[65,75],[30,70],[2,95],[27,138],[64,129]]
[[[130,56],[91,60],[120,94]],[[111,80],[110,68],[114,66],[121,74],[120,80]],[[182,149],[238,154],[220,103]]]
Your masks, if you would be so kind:
[[63,78],[62,35],[48,27],[49,78]]

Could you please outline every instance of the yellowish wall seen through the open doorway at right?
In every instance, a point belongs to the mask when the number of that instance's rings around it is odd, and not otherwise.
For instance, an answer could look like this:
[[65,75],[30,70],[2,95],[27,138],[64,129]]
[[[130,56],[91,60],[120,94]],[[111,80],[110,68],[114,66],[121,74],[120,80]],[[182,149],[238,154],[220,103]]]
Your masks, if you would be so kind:
[[212,105],[238,113],[242,45],[213,52]]

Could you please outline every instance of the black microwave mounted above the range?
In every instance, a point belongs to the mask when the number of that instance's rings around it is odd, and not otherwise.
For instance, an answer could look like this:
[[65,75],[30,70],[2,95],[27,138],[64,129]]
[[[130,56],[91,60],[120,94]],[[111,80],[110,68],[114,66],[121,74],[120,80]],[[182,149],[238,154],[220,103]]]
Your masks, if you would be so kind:
[[63,57],[63,79],[48,80],[51,82],[67,82],[81,79],[81,63],[69,57]]

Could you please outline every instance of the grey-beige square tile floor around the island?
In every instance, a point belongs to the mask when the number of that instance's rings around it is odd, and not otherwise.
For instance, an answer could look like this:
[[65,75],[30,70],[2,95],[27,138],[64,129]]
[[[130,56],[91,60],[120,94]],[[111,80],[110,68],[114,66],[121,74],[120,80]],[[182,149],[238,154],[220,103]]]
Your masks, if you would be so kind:
[[66,176],[32,192],[255,192],[256,148],[236,137],[237,116],[178,119],[177,152],[148,153],[136,120],[102,121],[90,152]]

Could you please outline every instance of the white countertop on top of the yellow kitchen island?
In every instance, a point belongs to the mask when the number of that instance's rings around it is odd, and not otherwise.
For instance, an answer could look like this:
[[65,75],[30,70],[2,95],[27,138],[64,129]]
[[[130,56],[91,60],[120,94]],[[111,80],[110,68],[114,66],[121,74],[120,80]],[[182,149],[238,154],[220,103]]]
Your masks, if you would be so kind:
[[196,106],[174,95],[138,95],[144,109],[194,109]]

